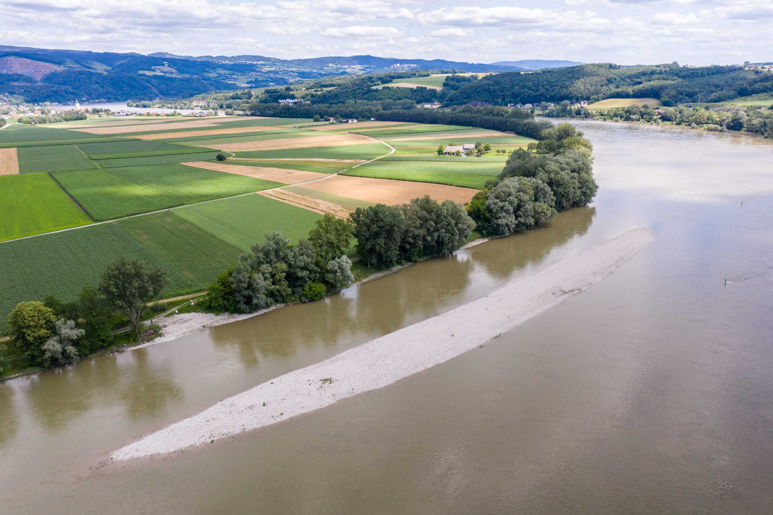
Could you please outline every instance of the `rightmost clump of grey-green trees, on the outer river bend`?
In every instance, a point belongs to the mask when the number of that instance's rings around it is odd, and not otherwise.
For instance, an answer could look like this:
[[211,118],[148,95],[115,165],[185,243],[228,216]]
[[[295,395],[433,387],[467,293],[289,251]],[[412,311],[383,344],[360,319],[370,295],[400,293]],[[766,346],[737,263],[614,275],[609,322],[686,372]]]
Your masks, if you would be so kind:
[[592,146],[582,131],[558,124],[543,131],[542,138],[530,150],[512,152],[497,179],[472,197],[467,212],[481,234],[531,229],[593,200],[598,185]]

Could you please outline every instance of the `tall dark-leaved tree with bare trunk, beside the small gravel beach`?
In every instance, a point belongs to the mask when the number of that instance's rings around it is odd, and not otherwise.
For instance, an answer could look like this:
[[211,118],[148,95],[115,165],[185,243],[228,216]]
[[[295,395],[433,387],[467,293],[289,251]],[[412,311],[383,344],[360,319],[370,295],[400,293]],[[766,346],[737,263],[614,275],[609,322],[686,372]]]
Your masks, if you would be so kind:
[[147,303],[156,298],[167,284],[166,273],[137,259],[119,257],[107,265],[99,281],[99,290],[117,309],[123,310],[140,339],[140,321],[148,309]]

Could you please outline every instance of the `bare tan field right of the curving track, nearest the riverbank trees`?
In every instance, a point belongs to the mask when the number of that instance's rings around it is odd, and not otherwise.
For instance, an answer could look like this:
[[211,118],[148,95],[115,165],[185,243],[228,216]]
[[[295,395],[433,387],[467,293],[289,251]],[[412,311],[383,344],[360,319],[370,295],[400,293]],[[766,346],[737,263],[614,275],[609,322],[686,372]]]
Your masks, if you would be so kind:
[[352,199],[384,204],[407,203],[417,196],[429,195],[438,202],[446,199],[455,202],[469,202],[476,190],[445,186],[429,182],[396,181],[390,179],[369,179],[367,177],[335,176],[324,181],[309,182],[305,188],[324,193],[347,196]]

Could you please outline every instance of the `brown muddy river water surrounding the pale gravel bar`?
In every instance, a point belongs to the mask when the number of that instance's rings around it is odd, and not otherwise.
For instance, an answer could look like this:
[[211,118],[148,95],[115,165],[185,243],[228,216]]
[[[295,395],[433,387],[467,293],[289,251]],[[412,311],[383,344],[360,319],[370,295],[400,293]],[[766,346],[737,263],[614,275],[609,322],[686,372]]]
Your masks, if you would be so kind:
[[[0,384],[2,512],[773,512],[773,142],[578,125],[601,189],[550,227]],[[94,469],[642,225],[656,239],[631,262],[483,348],[196,452]]]

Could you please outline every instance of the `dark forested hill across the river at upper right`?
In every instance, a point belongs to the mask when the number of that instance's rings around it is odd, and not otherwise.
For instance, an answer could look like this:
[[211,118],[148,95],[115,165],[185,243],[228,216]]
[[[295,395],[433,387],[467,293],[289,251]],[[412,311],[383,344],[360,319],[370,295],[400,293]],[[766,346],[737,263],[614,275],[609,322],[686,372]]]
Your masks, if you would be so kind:
[[720,102],[773,91],[773,73],[737,66],[680,67],[678,64],[621,67],[597,63],[534,73],[498,73],[449,91],[447,105],[470,101],[493,105],[564,100],[589,102],[605,98],[651,97],[662,105]]

